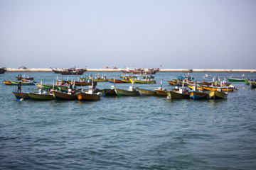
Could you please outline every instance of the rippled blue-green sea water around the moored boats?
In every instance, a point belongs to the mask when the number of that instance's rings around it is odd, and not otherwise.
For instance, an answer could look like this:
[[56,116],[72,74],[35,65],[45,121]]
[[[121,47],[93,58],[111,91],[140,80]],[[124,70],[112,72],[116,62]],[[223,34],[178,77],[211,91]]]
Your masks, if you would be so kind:
[[[53,72],[6,72],[53,84],[77,80]],[[96,77],[98,72],[83,76]],[[119,79],[122,72],[99,72]],[[143,89],[171,90],[167,82],[183,72],[157,72]],[[191,73],[201,81],[208,72]],[[256,79],[253,72],[209,72],[212,76]],[[256,90],[219,100],[166,100],[159,96],[107,97],[100,101],[18,101],[15,86],[0,83],[0,169],[256,169]],[[98,89],[114,84],[97,83]],[[132,84],[116,84],[128,89]],[[83,88],[87,89],[87,86]],[[22,92],[38,91],[22,86]]]

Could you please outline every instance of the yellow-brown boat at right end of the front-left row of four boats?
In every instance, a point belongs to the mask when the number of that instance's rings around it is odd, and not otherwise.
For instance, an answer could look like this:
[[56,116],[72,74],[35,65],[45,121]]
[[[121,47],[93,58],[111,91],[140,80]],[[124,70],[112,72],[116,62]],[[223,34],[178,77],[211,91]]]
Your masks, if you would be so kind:
[[98,101],[100,100],[100,92],[95,93],[93,91],[93,85],[89,86],[88,92],[80,92],[76,94],[79,101]]

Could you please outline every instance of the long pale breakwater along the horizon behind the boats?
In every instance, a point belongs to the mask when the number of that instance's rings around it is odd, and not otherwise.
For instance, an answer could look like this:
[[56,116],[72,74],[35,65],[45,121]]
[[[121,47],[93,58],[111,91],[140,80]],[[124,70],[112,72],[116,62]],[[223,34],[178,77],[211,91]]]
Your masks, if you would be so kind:
[[[122,69],[87,69],[87,72],[121,72]],[[160,69],[159,72],[184,72],[188,69]],[[16,69],[7,68],[7,72],[53,72],[49,68]],[[193,72],[256,72],[256,69],[193,69]]]

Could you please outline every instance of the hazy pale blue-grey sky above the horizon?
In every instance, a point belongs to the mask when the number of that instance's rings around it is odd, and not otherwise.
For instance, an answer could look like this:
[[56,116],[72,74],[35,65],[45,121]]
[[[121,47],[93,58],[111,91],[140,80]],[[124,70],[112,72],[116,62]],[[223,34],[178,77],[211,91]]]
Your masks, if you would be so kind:
[[0,67],[256,69],[255,0],[0,0]]

